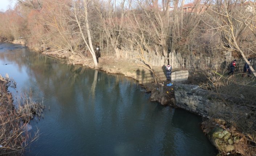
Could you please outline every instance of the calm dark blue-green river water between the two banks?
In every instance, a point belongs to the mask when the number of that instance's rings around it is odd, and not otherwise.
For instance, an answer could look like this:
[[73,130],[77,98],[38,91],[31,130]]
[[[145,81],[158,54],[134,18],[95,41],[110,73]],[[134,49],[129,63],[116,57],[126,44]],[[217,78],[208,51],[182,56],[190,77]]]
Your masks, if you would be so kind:
[[[26,156],[215,156],[201,118],[149,101],[134,80],[63,64],[22,45],[0,43],[0,74],[15,79],[18,93],[44,102],[44,119]],[[48,110],[50,108],[50,110]]]

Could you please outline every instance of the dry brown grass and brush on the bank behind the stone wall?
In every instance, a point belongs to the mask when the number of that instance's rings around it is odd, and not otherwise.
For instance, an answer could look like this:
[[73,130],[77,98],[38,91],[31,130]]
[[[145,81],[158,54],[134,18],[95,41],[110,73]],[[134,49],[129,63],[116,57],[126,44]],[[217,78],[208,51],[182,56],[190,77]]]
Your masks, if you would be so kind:
[[256,154],[256,81],[255,77],[241,77],[241,74],[227,76],[224,71],[207,73],[208,81],[202,88],[213,90],[226,102],[226,114],[212,111],[212,119],[203,122],[203,129],[208,133],[218,124],[231,132],[235,142],[235,152],[245,156]]

